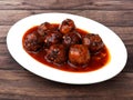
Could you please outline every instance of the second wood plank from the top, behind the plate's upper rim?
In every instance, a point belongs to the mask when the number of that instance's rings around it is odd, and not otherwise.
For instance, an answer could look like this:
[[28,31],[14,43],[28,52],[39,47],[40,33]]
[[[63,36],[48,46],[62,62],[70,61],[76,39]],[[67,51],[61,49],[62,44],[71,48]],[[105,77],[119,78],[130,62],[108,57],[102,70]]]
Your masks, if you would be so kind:
[[105,26],[113,27],[132,27],[133,10],[132,11],[100,11],[100,10],[0,10],[0,26],[12,26],[20,19],[31,14],[45,12],[65,12],[72,14],[83,16]]

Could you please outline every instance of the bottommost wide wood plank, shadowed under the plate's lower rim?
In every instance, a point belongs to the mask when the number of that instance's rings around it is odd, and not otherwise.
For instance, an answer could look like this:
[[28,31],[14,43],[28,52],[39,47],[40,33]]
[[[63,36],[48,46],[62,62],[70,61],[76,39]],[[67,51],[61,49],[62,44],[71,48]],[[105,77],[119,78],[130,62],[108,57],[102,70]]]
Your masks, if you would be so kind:
[[133,73],[122,72],[111,80],[91,86],[58,83],[24,70],[0,70],[0,73],[2,74],[0,76],[0,99],[34,100],[39,98],[63,100],[63,98],[66,98],[74,100],[75,98],[89,99],[93,97],[95,97],[94,100],[98,98],[102,98],[101,100],[133,99]]

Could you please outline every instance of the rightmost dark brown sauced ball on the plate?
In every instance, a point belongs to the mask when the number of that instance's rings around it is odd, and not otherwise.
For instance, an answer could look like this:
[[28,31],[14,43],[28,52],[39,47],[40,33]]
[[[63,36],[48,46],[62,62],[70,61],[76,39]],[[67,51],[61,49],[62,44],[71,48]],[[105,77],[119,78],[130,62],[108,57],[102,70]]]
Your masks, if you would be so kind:
[[89,33],[82,39],[82,43],[89,47],[91,52],[96,52],[103,48],[104,43],[99,34]]

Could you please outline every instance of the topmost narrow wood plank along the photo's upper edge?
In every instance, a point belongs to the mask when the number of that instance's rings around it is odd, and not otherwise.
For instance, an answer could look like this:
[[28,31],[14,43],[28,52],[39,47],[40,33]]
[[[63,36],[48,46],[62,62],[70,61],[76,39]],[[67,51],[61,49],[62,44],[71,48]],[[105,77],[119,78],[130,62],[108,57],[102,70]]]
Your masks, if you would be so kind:
[[[0,0],[0,9],[133,10],[133,0]],[[126,7],[125,7],[126,6]]]

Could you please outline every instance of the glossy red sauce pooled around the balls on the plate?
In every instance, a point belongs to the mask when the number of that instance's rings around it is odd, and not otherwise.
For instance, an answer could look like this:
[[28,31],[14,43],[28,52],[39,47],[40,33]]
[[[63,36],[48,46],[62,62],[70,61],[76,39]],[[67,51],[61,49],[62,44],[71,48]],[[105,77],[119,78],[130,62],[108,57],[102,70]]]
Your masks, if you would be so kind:
[[[59,24],[54,24],[54,27],[58,28]],[[27,37],[27,34],[35,31],[37,29],[38,29],[38,26],[29,29],[24,33],[23,39]],[[86,31],[84,31],[82,29],[76,29],[76,31],[81,36],[84,36],[84,34],[88,33]],[[22,41],[23,41],[23,39],[22,39]],[[43,64],[47,64],[48,67],[52,67],[52,68],[55,68],[55,69],[60,69],[60,70],[63,70],[63,71],[70,71],[70,72],[89,72],[89,71],[94,71],[94,70],[98,70],[98,69],[104,67],[110,61],[110,53],[109,53],[109,50],[108,50],[108,48],[105,46],[104,46],[104,48],[100,52],[98,52],[95,54],[91,54],[91,60],[89,61],[86,67],[73,67],[70,62],[68,62],[68,63],[65,63],[63,66],[53,64],[51,62],[48,62],[44,59],[45,52],[43,50],[41,50],[39,52],[35,52],[35,53],[27,51],[27,53],[29,53],[37,61],[39,61],[39,62],[41,62]]]

